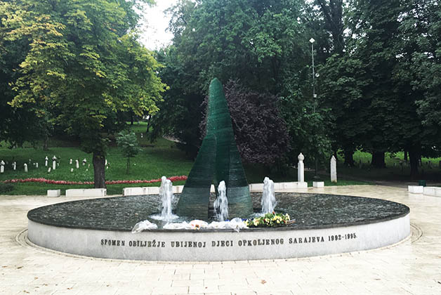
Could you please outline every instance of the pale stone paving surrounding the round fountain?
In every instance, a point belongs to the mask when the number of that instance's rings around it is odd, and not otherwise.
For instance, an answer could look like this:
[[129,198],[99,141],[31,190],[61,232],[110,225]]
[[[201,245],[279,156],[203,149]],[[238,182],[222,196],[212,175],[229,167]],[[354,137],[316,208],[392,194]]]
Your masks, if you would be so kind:
[[0,294],[441,294],[441,198],[377,185],[308,192],[407,204],[412,237],[385,249],[313,258],[111,261],[58,254],[25,243],[29,209],[70,199],[0,196]]

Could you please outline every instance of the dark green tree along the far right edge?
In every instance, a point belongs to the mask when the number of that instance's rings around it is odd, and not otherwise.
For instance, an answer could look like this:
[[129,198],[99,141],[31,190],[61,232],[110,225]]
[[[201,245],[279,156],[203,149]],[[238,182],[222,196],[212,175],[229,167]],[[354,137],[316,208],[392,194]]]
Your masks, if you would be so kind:
[[402,108],[402,131],[396,140],[409,151],[414,178],[421,156],[441,155],[440,25],[437,1],[413,0],[403,4],[398,28],[400,42],[396,46],[398,65],[394,71]]

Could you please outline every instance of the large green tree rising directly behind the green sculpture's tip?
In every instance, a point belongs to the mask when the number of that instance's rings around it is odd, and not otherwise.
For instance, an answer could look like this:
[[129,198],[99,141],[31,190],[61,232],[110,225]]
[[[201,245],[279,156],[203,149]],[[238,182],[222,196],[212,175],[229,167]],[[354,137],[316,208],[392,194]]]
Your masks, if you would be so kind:
[[[309,83],[305,89],[301,86],[305,57],[310,57],[302,8],[300,0],[178,2],[169,10],[173,46],[166,51],[170,63],[163,62],[166,69],[161,73],[173,94],[166,94],[161,111],[152,118],[158,122],[154,125],[171,123],[169,131],[178,135],[185,126],[191,130],[186,137],[195,138],[199,131],[188,126],[201,118],[197,103],[213,77],[223,84],[239,79],[251,91],[279,97],[309,91]],[[183,141],[195,146],[199,138]]]

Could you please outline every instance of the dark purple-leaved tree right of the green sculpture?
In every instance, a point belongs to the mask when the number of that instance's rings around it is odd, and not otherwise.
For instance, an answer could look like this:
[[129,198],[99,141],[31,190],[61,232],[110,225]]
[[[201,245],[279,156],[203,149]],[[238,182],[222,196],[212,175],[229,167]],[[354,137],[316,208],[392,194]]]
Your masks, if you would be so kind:
[[[224,91],[242,160],[266,166],[281,163],[290,146],[277,96],[251,91],[237,80],[228,81]],[[207,101],[208,97],[204,100],[205,108]],[[200,128],[204,133],[206,114]]]

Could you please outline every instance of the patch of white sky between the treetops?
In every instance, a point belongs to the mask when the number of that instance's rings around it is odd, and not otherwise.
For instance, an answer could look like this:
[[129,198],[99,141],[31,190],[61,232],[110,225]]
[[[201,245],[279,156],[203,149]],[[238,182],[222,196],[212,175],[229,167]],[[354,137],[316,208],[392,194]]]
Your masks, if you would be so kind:
[[158,49],[171,43],[173,34],[166,32],[169,27],[169,15],[164,10],[176,4],[178,0],[156,0],[156,6],[145,8],[140,42],[150,50]]

